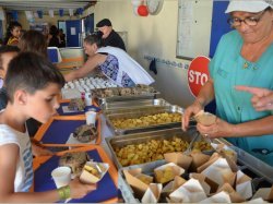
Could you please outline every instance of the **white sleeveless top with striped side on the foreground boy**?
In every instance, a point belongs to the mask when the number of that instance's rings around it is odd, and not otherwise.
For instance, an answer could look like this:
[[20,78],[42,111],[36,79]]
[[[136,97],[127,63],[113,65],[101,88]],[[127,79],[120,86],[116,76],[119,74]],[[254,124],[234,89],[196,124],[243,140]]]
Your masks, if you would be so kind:
[[[0,147],[5,144],[16,144],[20,147],[20,159],[14,181],[15,192],[28,192],[33,184],[32,144],[27,131],[19,132],[7,124],[0,124]],[[9,156],[9,155],[7,155]]]

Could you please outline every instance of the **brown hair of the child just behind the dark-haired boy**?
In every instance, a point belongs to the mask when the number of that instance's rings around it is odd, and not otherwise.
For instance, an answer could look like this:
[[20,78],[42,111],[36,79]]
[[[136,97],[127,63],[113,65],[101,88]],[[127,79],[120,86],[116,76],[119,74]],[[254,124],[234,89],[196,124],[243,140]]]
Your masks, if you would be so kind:
[[33,51],[47,57],[47,39],[40,32],[27,31],[19,41],[21,51]]

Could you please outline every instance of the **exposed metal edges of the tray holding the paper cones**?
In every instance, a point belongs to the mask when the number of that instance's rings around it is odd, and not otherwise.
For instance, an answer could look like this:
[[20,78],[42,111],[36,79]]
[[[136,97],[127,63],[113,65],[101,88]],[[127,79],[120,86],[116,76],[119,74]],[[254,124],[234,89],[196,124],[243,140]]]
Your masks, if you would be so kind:
[[[224,142],[225,140],[215,140],[217,142]],[[252,184],[252,191],[253,195],[256,191],[258,191],[260,188],[271,188],[273,184],[273,167],[266,165],[265,163],[261,161],[260,159],[253,157],[252,155],[246,153],[242,149],[239,149],[235,146],[230,146],[234,148],[238,155],[238,161],[237,166],[238,168],[252,178],[251,184]],[[156,167],[159,167],[162,165],[165,165],[165,160],[157,160],[153,163],[146,163],[142,165],[134,165],[129,167],[123,167],[119,169],[119,189],[121,190],[122,196],[124,199],[126,203],[141,203],[141,196],[138,194],[138,191],[133,191],[132,188],[129,185],[129,183],[126,181],[126,177],[123,175],[123,170],[134,169],[134,168],[142,168],[142,172],[145,175],[153,175],[153,171]],[[186,172],[186,177],[187,177]],[[166,203],[167,201],[164,200],[165,197],[162,197],[159,202]]]

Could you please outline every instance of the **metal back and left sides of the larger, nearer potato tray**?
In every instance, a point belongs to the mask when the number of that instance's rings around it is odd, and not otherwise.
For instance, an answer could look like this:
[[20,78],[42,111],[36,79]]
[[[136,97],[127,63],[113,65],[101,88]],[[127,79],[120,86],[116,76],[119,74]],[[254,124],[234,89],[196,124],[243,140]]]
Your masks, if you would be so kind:
[[151,140],[157,140],[157,141],[171,140],[174,136],[182,139],[183,141],[190,143],[195,132],[197,131],[193,128],[189,129],[187,132],[183,132],[181,128],[174,128],[174,129],[157,130],[145,133],[143,132],[136,134],[127,134],[121,136],[111,136],[111,137],[106,137],[105,140],[112,155],[114,163],[116,164],[117,168],[120,169],[123,166],[119,163],[118,157],[114,151],[114,148],[116,147],[122,147],[129,144],[145,143]]

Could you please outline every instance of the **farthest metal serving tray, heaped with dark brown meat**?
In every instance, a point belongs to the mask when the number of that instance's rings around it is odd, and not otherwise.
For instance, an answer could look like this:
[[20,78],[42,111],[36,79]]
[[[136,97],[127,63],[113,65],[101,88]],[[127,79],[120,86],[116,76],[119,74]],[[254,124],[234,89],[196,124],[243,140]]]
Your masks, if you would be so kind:
[[102,105],[107,101],[134,100],[155,98],[161,94],[152,86],[136,85],[135,87],[97,88],[92,92],[94,100]]

